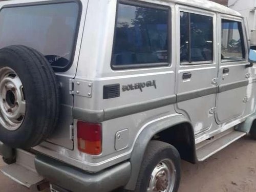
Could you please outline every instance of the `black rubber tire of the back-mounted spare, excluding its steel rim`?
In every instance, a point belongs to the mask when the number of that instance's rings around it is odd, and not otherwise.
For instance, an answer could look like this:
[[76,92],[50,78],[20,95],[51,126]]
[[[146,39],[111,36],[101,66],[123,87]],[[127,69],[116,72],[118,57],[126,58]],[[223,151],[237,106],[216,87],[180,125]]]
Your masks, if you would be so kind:
[[0,123],[0,140],[13,148],[30,148],[46,140],[59,115],[59,86],[48,60],[32,48],[9,46],[0,50],[0,69],[9,67],[23,84],[26,113],[15,131]]

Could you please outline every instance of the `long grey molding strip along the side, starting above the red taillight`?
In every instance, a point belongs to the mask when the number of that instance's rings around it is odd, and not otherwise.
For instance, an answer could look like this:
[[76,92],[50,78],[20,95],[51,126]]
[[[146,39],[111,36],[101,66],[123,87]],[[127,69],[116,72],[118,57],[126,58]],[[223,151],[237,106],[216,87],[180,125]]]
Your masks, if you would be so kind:
[[82,108],[74,107],[73,118],[87,121],[87,122],[92,122],[92,123],[100,123],[102,121],[123,117],[126,115],[132,115],[135,113],[140,113],[148,110],[153,110],[156,108],[161,108],[162,106],[175,104],[177,102],[182,102],[189,99],[195,99],[195,98],[203,97],[210,94],[222,93],[232,89],[245,87],[245,86],[248,86],[248,84],[249,84],[248,80],[243,80],[243,81],[238,81],[234,83],[224,84],[219,87],[193,90],[185,93],[180,93],[177,95],[161,97],[157,99],[117,106],[114,108],[103,109],[103,110],[90,110],[90,109],[82,109]]

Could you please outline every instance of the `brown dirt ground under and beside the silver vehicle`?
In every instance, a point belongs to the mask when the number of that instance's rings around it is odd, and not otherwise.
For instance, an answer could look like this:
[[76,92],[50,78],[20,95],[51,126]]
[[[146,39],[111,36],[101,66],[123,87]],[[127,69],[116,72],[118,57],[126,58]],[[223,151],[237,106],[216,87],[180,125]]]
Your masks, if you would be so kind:
[[[4,166],[0,162],[0,166]],[[234,142],[208,160],[193,165],[182,161],[179,192],[255,192],[256,141]],[[0,174],[1,192],[32,192]]]

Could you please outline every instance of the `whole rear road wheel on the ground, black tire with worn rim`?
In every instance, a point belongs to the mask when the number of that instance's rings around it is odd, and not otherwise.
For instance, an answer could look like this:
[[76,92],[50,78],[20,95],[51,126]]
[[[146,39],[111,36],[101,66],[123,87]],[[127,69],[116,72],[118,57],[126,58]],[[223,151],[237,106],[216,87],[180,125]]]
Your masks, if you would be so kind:
[[176,148],[162,141],[151,141],[143,157],[135,192],[176,192],[180,172]]

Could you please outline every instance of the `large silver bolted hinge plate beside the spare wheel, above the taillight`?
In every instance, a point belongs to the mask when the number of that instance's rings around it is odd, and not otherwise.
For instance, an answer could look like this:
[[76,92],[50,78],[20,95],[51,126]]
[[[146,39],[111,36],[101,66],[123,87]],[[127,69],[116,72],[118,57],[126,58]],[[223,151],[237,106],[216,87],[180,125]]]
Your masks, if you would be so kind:
[[92,97],[93,84],[90,81],[69,80],[69,92],[71,95],[78,95],[82,97]]

